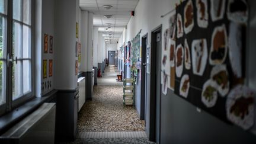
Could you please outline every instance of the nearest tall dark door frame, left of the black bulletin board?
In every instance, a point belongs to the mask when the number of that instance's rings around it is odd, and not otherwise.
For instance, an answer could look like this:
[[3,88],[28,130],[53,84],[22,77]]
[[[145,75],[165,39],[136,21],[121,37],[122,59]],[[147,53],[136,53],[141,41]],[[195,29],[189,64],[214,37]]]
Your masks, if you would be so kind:
[[[156,27],[155,29],[153,29],[151,31],[151,75],[150,75],[150,110],[149,110],[149,140],[156,142],[156,113],[160,114],[161,117],[161,113],[159,111],[156,111],[156,107],[160,107],[160,104],[156,104],[156,97],[159,96],[161,98],[161,92],[159,93],[159,95],[156,94],[156,61],[157,61],[157,55],[156,55],[156,35],[157,33],[161,33],[161,37],[162,37],[162,24],[159,25],[158,27]],[[162,43],[162,39],[161,39],[161,43]],[[160,51],[161,52],[161,51]],[[161,77],[160,77],[161,78]],[[161,86],[160,86],[161,89]],[[161,101],[161,99],[160,99]],[[159,117],[159,126],[160,126],[160,117]],[[161,126],[160,126],[161,127]],[[159,127],[159,135],[160,135],[160,127]],[[159,136],[160,137],[160,136]]]

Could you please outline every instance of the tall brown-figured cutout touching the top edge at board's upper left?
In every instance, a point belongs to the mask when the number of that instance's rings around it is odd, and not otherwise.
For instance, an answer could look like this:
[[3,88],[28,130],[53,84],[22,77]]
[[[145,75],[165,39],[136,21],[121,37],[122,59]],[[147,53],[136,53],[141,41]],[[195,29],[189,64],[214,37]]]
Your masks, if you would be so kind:
[[184,8],[184,31],[189,33],[194,27],[194,8],[192,1],[189,0]]

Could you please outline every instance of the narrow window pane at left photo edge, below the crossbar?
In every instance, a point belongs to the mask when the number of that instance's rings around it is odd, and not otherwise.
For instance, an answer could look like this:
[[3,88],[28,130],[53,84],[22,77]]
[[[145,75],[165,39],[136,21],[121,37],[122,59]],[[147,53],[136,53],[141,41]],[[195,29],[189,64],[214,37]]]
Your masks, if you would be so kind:
[[5,103],[5,94],[4,94],[4,90],[5,90],[5,76],[4,76],[4,72],[5,72],[5,66],[4,66],[4,62],[0,61],[0,105]]

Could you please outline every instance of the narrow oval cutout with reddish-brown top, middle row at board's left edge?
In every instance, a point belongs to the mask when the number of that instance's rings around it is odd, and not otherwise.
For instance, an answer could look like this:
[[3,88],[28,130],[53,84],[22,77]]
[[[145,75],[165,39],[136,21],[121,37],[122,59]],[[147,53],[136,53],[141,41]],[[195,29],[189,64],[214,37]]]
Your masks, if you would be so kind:
[[179,44],[177,46],[176,49],[176,56],[175,56],[175,62],[176,62],[176,75],[177,77],[181,77],[181,74],[183,73],[183,56],[184,56],[184,52],[183,52],[183,46],[181,44]]

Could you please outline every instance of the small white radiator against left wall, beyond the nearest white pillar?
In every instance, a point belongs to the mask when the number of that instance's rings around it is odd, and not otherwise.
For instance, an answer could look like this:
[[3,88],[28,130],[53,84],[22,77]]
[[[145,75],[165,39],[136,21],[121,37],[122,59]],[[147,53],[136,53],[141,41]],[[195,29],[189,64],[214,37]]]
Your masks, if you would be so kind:
[[82,106],[85,103],[85,77],[78,78],[78,87],[79,87],[78,111],[80,111]]

